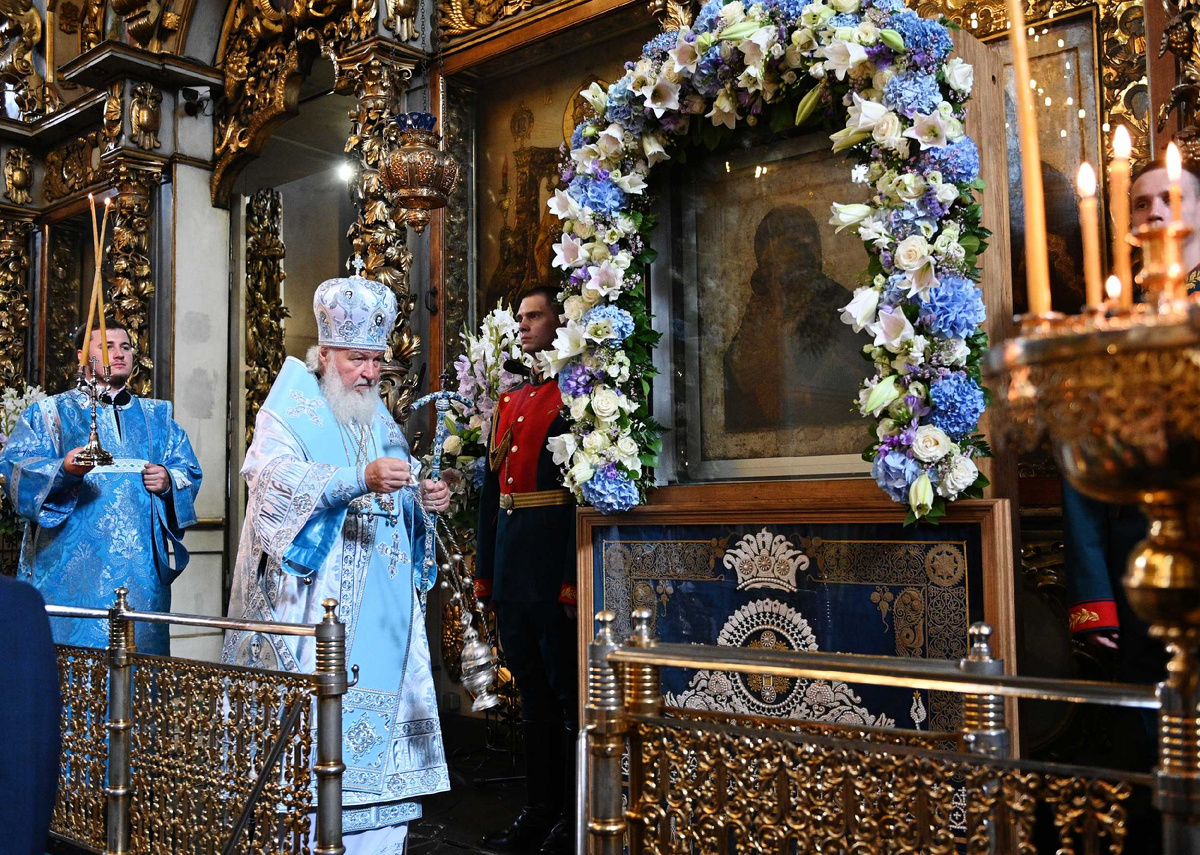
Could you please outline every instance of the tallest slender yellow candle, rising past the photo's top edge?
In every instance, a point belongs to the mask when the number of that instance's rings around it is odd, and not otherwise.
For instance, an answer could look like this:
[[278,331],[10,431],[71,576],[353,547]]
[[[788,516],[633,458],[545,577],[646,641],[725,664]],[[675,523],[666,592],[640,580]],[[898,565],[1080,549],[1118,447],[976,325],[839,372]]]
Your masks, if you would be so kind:
[[1021,187],[1025,191],[1025,270],[1031,315],[1050,311],[1050,262],[1046,252],[1045,195],[1038,120],[1030,86],[1030,52],[1025,43],[1021,0],[1008,0],[1013,70],[1016,72],[1016,120],[1021,139]]

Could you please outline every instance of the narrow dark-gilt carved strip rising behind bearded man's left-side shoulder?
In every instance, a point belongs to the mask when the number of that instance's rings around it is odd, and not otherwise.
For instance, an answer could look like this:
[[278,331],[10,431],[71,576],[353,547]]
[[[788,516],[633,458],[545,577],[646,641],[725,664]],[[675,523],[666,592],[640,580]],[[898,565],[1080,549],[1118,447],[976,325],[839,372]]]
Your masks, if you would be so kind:
[[283,367],[283,198],[264,187],[246,213],[246,446],[275,376]]

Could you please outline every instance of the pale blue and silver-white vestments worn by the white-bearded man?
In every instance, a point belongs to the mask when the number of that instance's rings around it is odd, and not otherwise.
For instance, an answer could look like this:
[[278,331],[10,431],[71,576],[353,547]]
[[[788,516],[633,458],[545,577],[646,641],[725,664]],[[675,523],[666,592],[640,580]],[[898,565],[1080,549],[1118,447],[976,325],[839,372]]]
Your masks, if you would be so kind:
[[[382,401],[361,444],[372,459],[414,462]],[[371,495],[359,447],[317,377],[288,358],[241,470],[250,501],[229,600],[232,616],[316,623],[322,600],[337,599],[348,664],[360,668],[342,712],[348,832],[419,817],[415,797],[450,788],[421,602],[434,572],[420,561],[416,491]],[[316,651],[307,638],[230,632],[222,659],[311,672]]]

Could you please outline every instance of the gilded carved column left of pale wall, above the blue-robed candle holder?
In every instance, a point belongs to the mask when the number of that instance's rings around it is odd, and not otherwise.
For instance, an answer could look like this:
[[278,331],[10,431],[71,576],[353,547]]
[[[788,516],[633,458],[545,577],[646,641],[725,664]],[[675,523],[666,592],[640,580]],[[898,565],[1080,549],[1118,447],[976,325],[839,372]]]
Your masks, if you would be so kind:
[[150,264],[151,202],[161,168],[118,161],[109,169],[116,187],[113,203],[112,243],[107,247],[109,311],[130,330],[134,373],[130,388],[138,395],[151,391],[154,359],[150,355],[154,270]]

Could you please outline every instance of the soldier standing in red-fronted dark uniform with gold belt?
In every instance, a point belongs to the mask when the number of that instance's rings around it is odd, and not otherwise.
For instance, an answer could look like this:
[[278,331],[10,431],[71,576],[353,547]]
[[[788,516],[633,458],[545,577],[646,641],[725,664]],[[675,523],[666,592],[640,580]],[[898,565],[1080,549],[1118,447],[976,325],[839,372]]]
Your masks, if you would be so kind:
[[[559,311],[551,288],[521,299],[516,318],[526,353],[550,349]],[[526,807],[509,827],[482,838],[499,851],[574,850],[575,498],[546,448],[547,437],[570,430],[562,407],[558,384],[536,371],[500,396],[480,498],[475,596],[496,609],[524,730]]]

